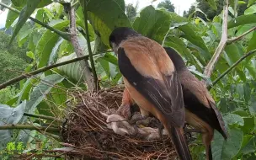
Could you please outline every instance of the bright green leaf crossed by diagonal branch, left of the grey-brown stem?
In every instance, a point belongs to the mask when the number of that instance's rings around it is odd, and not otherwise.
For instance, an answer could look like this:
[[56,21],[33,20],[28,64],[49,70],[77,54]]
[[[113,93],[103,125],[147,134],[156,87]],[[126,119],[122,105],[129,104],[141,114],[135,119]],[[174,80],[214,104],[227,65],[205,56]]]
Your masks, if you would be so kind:
[[[55,29],[65,29],[69,21],[57,21],[53,26]],[[35,48],[35,57],[39,58],[38,67],[45,67],[49,61],[49,57],[51,55],[51,51],[56,45],[56,42],[59,39],[59,35],[56,33],[52,33],[51,30],[45,31],[45,33],[41,36],[38,44]]]

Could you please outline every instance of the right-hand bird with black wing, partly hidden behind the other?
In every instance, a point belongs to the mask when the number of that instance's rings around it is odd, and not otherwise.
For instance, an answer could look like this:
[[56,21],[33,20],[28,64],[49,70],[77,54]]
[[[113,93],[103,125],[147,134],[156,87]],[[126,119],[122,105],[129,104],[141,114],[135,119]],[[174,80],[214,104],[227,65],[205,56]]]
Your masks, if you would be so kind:
[[172,48],[164,47],[164,49],[173,61],[183,88],[185,120],[202,132],[206,158],[211,160],[211,141],[214,130],[219,131],[227,139],[227,130],[221,113],[204,84],[189,72],[182,57]]

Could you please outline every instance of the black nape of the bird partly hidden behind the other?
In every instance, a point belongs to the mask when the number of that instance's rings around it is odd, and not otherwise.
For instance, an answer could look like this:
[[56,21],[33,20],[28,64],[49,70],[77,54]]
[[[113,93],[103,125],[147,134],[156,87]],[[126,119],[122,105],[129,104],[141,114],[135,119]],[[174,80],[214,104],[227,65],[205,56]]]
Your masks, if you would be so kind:
[[186,64],[184,63],[181,56],[179,56],[179,53],[177,51],[173,50],[170,47],[163,47],[168,56],[173,61],[173,65],[176,68],[176,71],[182,71],[184,69],[187,69]]

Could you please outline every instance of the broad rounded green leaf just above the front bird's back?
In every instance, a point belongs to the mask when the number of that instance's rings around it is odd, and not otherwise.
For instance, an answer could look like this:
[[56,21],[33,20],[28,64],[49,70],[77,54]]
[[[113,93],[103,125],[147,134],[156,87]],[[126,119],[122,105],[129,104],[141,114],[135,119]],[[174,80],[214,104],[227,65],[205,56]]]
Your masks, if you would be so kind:
[[141,10],[140,17],[137,17],[133,24],[133,29],[141,35],[162,43],[164,35],[168,32],[170,21],[171,16],[168,11],[148,6]]

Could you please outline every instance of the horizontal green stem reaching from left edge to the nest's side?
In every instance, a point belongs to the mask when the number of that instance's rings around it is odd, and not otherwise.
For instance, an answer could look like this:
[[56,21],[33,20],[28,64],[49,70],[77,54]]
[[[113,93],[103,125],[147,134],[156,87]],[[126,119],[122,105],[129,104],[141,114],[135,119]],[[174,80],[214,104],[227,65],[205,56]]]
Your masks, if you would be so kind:
[[54,131],[59,132],[60,129],[48,126],[35,126],[35,125],[1,125],[0,130],[36,130],[36,131]]

